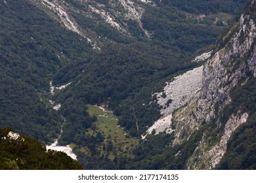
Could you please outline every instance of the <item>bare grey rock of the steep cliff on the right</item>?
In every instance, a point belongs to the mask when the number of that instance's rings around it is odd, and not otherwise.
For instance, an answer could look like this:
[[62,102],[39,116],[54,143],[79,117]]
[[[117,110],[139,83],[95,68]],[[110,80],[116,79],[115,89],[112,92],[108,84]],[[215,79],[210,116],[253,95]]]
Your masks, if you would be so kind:
[[[219,116],[232,102],[230,92],[244,85],[249,73],[256,76],[256,20],[255,1],[251,1],[240,17],[240,22],[219,41],[219,49],[203,67],[202,88],[188,105],[173,114],[175,124],[174,144],[182,144],[200,129],[202,124],[213,124],[203,133],[194,154],[187,161],[188,169],[212,169],[226,151],[232,132],[246,122],[247,112],[234,112],[226,122]],[[224,46],[221,46],[224,45]],[[210,132],[211,131],[211,132]],[[209,133],[216,131],[217,138]]]

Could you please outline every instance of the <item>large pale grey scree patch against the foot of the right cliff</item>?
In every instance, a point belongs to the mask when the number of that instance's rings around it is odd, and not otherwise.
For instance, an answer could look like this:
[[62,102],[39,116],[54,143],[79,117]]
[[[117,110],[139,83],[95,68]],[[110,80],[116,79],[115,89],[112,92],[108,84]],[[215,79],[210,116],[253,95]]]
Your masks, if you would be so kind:
[[[186,73],[174,78],[172,82],[167,82],[167,85],[163,88],[163,92],[154,93],[157,95],[158,104],[163,108],[160,110],[163,118],[160,118],[154,125],[148,128],[147,133],[152,133],[152,130],[156,130],[156,134],[165,131],[166,133],[172,133],[171,129],[172,113],[175,109],[185,105],[202,87],[202,75],[203,66],[197,67]],[[165,93],[166,97],[162,97]],[[167,101],[171,99],[169,106]],[[144,139],[146,136],[142,136]]]

